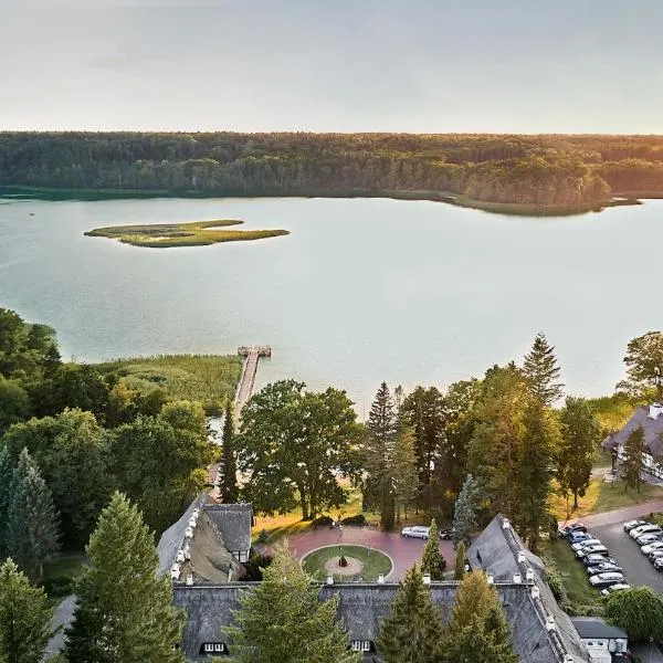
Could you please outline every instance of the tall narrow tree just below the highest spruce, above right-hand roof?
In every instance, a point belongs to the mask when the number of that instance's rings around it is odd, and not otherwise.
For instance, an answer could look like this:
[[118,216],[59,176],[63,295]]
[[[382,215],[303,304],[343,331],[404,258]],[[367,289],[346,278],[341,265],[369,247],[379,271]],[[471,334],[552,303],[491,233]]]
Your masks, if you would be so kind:
[[550,467],[559,448],[559,423],[539,399],[530,399],[523,419],[525,433],[519,453],[516,524],[536,551],[539,532],[548,520]]

